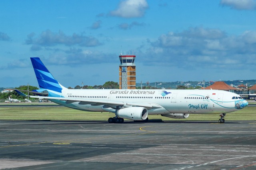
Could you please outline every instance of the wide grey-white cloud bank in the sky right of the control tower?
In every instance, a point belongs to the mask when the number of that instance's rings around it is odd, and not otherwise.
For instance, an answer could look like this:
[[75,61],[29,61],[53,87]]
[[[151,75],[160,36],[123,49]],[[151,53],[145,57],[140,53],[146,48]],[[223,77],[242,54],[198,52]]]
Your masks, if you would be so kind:
[[[214,34],[214,35],[212,35]],[[145,65],[165,65],[184,69],[242,69],[255,66],[256,31],[228,36],[219,29],[192,27],[182,32],[160,35],[143,56]]]

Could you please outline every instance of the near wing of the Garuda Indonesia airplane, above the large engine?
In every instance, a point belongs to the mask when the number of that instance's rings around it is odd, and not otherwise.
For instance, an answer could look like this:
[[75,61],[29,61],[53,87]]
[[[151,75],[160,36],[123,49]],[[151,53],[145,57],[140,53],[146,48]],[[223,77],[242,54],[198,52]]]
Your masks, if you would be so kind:
[[30,96],[31,98],[44,98],[44,99],[53,99],[66,101],[66,104],[71,104],[74,102],[79,102],[81,105],[90,104],[92,106],[108,105],[112,106],[140,106],[147,109],[153,108],[162,108],[155,103],[146,103],[146,102],[120,102],[120,101],[108,101],[108,100],[96,100],[96,99],[82,99],[82,98],[62,98],[62,97],[42,97],[42,96]]

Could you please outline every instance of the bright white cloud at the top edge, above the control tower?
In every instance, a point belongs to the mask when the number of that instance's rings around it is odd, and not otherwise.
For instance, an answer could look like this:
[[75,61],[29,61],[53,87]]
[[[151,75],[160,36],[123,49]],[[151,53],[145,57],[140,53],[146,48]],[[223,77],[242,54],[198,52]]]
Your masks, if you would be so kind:
[[110,15],[122,18],[139,18],[144,16],[147,8],[146,0],[122,0],[118,9],[111,11]]

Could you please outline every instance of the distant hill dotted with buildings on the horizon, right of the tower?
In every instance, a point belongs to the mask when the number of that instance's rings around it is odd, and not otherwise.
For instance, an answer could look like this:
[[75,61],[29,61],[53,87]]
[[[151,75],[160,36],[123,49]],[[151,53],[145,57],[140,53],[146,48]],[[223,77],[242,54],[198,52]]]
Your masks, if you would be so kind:
[[[193,87],[195,88],[196,86],[210,86],[212,85],[214,82],[216,81],[206,81],[206,82],[203,82],[203,81],[188,81],[188,82],[179,82],[179,81],[176,81],[176,82],[150,82],[148,84],[148,86],[152,86],[152,87],[156,87],[156,88],[168,88],[168,89],[176,89],[177,86],[188,86],[188,87]],[[251,86],[253,86],[254,84],[256,84],[256,80],[225,80],[225,81],[222,81],[222,82],[225,82],[226,84],[230,85],[230,86],[233,86],[233,87],[237,87],[241,84],[244,84],[246,86],[248,86],[249,88]],[[140,83],[136,83],[136,87],[140,87],[141,84]],[[142,86],[147,86],[146,83],[142,83]]]

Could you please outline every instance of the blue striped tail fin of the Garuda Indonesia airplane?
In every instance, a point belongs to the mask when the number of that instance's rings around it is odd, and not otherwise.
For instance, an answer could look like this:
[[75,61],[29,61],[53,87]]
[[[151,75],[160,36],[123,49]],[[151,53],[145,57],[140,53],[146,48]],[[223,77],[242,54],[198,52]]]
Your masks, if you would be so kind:
[[46,68],[44,63],[38,57],[31,57],[31,62],[36,74],[38,85],[41,89],[52,90],[54,92],[61,93],[64,88],[57,80],[52,76],[49,70]]

